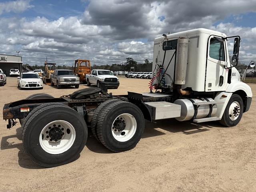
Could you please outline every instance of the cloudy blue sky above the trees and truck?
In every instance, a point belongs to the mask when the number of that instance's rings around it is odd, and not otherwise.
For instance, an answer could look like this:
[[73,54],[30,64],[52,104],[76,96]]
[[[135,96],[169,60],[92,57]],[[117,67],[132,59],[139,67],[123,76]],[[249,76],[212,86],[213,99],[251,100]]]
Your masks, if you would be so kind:
[[209,28],[240,35],[240,61],[256,60],[256,0],[0,0],[2,54],[72,65],[153,58],[154,38]]

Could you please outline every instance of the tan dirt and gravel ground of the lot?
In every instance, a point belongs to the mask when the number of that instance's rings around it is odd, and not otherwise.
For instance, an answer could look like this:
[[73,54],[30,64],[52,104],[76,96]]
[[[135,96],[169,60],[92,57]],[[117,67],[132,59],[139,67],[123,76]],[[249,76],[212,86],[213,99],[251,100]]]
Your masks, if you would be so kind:
[[[59,97],[76,90],[50,86],[18,90],[16,81],[7,78],[6,86],[0,87],[0,109],[5,103],[34,93]],[[148,80],[120,78],[120,83],[117,90],[109,92],[148,92]],[[256,84],[249,85],[256,95]],[[86,87],[81,85],[80,89]],[[55,168],[42,168],[32,162],[22,146],[20,124],[8,130],[1,118],[0,191],[255,192],[255,108],[253,100],[250,111],[232,128],[217,122],[146,122],[137,146],[122,153],[109,151],[89,136],[80,158]]]

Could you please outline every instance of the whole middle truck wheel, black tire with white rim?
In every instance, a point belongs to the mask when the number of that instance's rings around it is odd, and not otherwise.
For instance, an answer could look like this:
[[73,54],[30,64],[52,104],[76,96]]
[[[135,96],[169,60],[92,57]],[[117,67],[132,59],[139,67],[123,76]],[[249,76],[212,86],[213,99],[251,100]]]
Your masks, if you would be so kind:
[[105,106],[98,117],[98,139],[114,152],[134,148],[143,132],[144,116],[132,103],[112,102]]

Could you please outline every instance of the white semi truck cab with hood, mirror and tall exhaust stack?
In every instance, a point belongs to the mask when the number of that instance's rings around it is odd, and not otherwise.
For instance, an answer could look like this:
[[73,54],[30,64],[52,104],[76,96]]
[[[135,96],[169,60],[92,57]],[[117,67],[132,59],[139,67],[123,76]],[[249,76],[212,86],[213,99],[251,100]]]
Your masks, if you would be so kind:
[[[228,53],[230,46],[233,46],[232,54]],[[178,120],[188,120],[186,116],[189,110],[194,114],[190,115],[191,119],[196,119],[198,111],[193,106],[193,99],[197,98],[202,101],[211,98],[216,102],[215,107],[217,106],[214,115],[205,112],[207,118],[202,118],[200,122],[221,120],[226,107],[230,105],[230,111],[238,109],[246,112],[250,108],[252,90],[240,81],[240,74],[235,68],[238,64],[239,47],[240,36],[228,37],[224,33],[204,28],[163,34],[154,40],[151,91],[155,89],[162,93],[168,87],[174,92],[177,90],[174,103],[183,103],[181,114],[184,114],[184,118],[177,118]],[[234,95],[240,96],[242,103],[234,101],[228,104]],[[190,107],[187,106],[188,103]],[[227,116],[233,117],[233,114]],[[233,120],[225,125],[234,125]]]

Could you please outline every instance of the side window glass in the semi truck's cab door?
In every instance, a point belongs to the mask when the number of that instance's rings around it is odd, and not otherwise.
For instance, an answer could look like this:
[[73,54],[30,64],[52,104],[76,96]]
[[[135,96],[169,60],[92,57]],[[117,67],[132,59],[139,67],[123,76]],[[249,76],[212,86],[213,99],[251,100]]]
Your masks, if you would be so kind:
[[221,38],[213,37],[210,39],[209,55],[213,59],[225,61],[224,41]]

